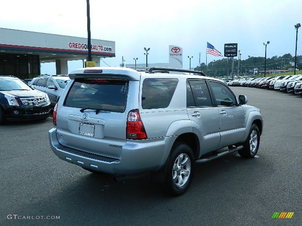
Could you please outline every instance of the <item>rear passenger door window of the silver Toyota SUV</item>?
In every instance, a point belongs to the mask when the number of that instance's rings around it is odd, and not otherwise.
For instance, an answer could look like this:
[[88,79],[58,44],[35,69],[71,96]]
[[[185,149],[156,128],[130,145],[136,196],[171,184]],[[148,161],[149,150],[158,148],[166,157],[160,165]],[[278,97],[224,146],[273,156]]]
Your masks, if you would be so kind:
[[[204,80],[190,80],[189,85],[193,93],[196,107],[211,107],[213,106],[207,83]],[[187,86],[188,90],[188,86]],[[189,103],[190,105],[192,104]],[[187,105],[188,105],[188,91],[187,91]]]

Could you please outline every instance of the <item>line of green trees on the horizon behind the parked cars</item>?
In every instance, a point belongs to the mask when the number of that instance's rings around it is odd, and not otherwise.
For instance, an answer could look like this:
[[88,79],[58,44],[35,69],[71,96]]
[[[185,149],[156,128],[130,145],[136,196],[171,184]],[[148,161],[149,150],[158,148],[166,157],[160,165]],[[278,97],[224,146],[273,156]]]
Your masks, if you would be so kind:
[[[266,71],[270,70],[294,70],[295,56],[291,54],[284,54],[283,56],[273,56],[266,58]],[[221,60],[214,60],[206,65],[201,63],[200,66],[194,68],[196,71],[203,71],[210,77],[226,77],[227,74],[232,75],[233,58],[223,58]],[[246,60],[239,60],[239,76],[253,75],[254,69],[264,71],[265,58],[264,57],[249,57]],[[297,55],[296,70],[302,70],[302,55]],[[238,71],[238,58],[234,58],[233,74]],[[227,73],[229,72],[229,73]]]

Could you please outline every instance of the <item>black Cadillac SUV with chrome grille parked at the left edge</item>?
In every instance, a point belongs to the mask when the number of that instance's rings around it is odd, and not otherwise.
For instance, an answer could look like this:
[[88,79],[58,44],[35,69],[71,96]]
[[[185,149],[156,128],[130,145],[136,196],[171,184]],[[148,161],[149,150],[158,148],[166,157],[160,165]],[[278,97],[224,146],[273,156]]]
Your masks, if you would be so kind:
[[5,120],[46,119],[50,101],[14,76],[0,76],[0,124]]

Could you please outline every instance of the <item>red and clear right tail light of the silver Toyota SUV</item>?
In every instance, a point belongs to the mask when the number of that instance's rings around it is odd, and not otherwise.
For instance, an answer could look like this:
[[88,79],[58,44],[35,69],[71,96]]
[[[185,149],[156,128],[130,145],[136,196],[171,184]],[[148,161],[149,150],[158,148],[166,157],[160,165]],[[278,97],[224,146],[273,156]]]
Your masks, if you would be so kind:
[[131,110],[128,113],[126,137],[132,140],[147,139],[147,133],[138,109]]

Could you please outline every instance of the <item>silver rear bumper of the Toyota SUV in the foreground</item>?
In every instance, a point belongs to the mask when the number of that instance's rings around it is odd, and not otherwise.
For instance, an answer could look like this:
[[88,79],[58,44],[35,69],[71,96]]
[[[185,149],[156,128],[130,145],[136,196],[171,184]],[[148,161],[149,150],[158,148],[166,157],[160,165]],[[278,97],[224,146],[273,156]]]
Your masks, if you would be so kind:
[[49,130],[48,136],[51,149],[60,159],[109,174],[138,174],[157,171],[165,165],[169,155],[169,151],[165,150],[167,139],[164,137],[135,142],[127,141],[121,147],[121,158],[116,159],[62,146],[58,142],[56,128]]

